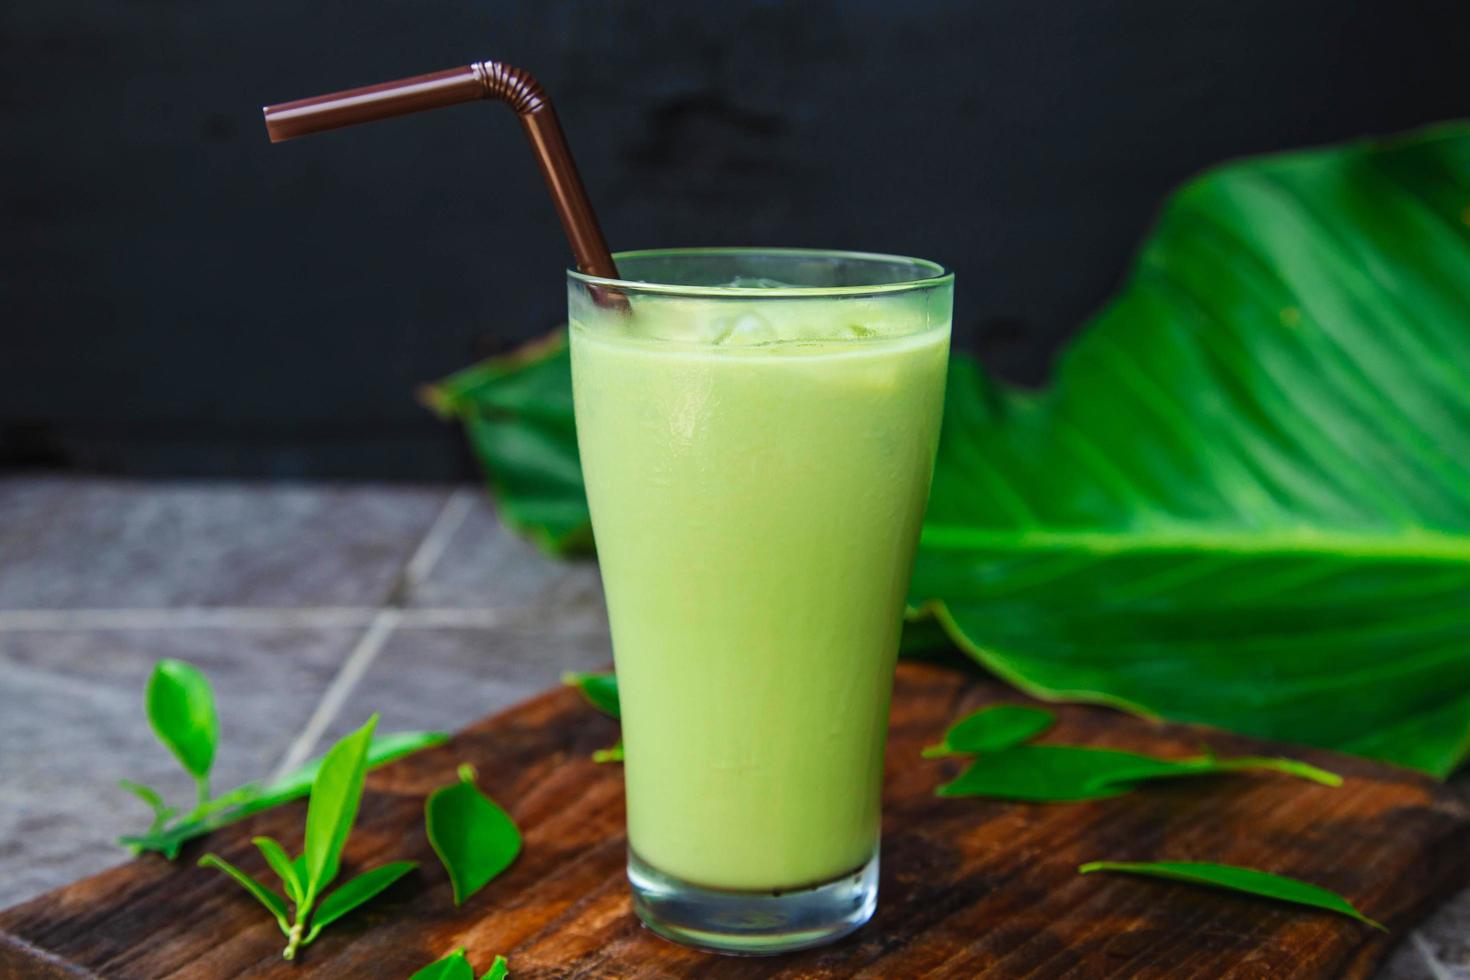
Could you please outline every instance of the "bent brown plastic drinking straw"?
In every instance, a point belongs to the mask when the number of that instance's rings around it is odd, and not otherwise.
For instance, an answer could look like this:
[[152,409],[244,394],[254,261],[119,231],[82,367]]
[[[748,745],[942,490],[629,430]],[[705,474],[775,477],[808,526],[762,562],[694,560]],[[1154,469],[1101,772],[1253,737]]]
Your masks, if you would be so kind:
[[400,78],[365,88],[351,88],[329,96],[266,106],[266,132],[270,143],[294,140],[312,132],[323,132],[359,122],[403,116],[410,112],[454,106],[476,98],[507,103],[520,118],[531,138],[531,148],[541,165],[541,175],[551,190],[562,228],[576,267],[594,276],[617,278],[617,266],[603,241],[592,204],[587,200],[582,178],[576,173],[572,151],[562,135],[562,123],[541,82],[519,68],[500,62],[476,62],[431,75]]

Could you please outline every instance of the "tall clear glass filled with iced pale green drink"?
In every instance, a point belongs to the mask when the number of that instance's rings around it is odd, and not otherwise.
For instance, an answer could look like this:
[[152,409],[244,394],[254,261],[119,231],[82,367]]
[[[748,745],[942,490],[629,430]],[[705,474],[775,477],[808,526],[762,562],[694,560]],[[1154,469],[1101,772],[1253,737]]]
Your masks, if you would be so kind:
[[569,273],[569,303],[634,904],[707,949],[831,942],[878,899],[954,278],[833,251],[616,259],[622,279]]

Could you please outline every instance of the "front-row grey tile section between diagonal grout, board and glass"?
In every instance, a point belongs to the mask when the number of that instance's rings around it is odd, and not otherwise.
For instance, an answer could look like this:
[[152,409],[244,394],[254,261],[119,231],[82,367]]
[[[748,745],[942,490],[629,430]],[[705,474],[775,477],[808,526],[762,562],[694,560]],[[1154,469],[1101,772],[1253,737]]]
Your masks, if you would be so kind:
[[609,638],[597,629],[400,629],[325,738],[341,738],[373,711],[384,732],[454,732],[559,683],[563,670],[601,670],[612,660]]

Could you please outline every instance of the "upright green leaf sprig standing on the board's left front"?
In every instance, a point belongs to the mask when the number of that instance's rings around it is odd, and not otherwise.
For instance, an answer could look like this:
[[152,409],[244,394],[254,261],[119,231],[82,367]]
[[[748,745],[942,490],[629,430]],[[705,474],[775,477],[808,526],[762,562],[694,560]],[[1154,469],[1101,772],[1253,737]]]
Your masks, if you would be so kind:
[[[285,896],[216,854],[206,854],[198,861],[200,867],[213,867],[232,877],[275,917],[276,926],[287,937],[281,954],[287,959],[295,959],[300,948],[310,945],[323,929],[419,867],[417,861],[394,861],[326,892],[326,887],[337,880],[343,849],[357,820],[363,780],[368,774],[368,748],[376,724],[375,714],[368,724],[334,745],[322,760],[306,808],[306,843],[300,857],[290,858],[285,848],[270,837],[254,839],[266,864],[281,879]],[[294,908],[290,915],[288,899]]]

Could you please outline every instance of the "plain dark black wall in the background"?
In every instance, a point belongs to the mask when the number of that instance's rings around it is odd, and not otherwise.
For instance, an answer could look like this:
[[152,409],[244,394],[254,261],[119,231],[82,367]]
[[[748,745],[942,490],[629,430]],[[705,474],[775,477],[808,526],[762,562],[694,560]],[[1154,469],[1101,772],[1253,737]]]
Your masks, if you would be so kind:
[[413,389],[560,322],[509,110],[272,147],[259,106],[498,57],[614,248],[898,251],[1048,359],[1167,188],[1470,112],[1464,0],[7,0],[0,467],[447,478]]

